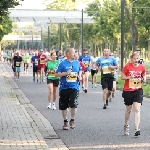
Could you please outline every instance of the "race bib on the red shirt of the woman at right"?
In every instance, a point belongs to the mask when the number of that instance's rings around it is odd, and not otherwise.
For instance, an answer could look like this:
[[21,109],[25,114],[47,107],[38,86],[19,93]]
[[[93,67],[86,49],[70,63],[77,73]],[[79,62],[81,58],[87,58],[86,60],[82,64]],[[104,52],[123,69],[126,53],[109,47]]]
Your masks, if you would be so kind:
[[129,80],[129,88],[139,89],[141,87],[142,87],[141,79],[130,79]]

